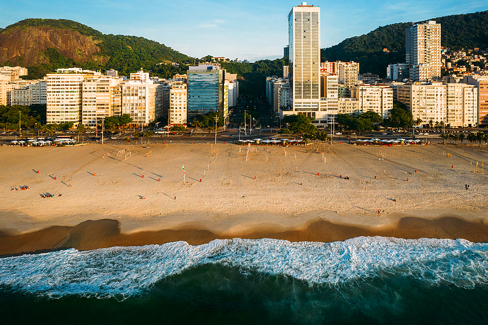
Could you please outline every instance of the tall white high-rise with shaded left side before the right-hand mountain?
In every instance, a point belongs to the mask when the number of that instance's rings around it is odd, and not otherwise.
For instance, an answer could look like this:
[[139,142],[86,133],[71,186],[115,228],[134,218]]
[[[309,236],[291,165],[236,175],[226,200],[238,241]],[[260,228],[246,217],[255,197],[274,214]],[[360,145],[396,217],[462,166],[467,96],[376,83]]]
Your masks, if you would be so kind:
[[413,81],[441,78],[441,24],[435,20],[415,24],[405,33],[406,59]]

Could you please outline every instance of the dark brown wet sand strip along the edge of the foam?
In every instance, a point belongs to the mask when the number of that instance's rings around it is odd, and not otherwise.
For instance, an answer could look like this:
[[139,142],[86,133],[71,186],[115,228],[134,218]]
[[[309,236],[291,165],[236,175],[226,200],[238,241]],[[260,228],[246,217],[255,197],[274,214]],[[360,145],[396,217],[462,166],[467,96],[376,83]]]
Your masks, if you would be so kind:
[[452,214],[434,219],[403,216],[398,222],[379,227],[333,223],[326,220],[306,223],[303,227],[280,229],[269,224],[255,224],[242,232],[215,232],[201,225],[185,224],[175,229],[122,233],[121,223],[113,219],[87,220],[74,227],[51,226],[24,234],[0,232],[0,256],[42,253],[56,249],[90,250],[112,246],[142,246],[185,241],[205,244],[214,239],[274,238],[290,242],[334,242],[359,236],[383,236],[404,239],[463,238],[470,242],[488,242],[486,219],[467,221]]

